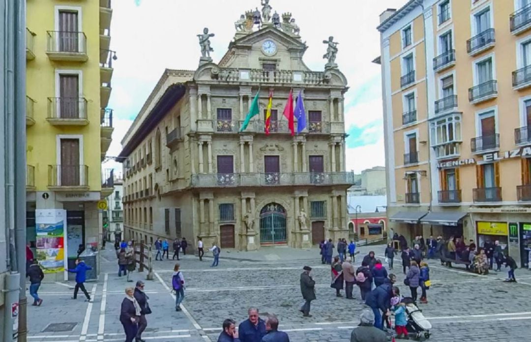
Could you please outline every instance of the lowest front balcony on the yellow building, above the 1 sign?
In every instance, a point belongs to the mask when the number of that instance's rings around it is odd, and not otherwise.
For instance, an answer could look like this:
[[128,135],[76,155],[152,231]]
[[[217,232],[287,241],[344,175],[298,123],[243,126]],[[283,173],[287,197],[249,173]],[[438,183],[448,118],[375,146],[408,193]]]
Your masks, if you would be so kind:
[[89,190],[87,165],[48,165],[48,189],[57,191]]

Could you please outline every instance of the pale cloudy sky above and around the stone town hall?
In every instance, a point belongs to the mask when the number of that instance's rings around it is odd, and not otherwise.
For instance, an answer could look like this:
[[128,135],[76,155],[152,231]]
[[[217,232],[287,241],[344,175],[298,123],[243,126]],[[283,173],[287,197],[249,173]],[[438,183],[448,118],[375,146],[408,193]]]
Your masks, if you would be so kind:
[[[379,14],[399,8],[406,0],[270,0],[273,11],[291,12],[308,49],[304,62],[324,70],[324,39],[339,41],[336,62],[347,76],[345,95],[347,170],[356,173],[385,165],[380,66]],[[302,5],[304,4],[304,5]],[[260,0],[115,0],[111,24],[111,49],[118,57],[109,108],[113,108],[113,142],[108,156],[118,156],[120,141],[168,69],[195,70],[200,49],[196,35],[208,27],[214,62],[225,54],[234,37],[234,22],[245,11],[260,7]],[[108,161],[104,168],[121,164]]]

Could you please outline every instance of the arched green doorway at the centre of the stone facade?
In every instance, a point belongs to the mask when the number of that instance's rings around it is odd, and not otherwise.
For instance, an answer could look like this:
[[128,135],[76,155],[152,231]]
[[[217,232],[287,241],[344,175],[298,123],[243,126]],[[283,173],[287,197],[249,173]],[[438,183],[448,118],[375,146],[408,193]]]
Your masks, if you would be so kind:
[[260,244],[286,243],[286,209],[269,203],[260,210]]

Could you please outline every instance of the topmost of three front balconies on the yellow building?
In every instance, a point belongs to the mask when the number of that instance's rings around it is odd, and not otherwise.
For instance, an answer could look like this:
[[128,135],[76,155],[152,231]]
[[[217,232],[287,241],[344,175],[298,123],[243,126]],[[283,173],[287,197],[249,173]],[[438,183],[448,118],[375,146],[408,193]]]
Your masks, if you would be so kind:
[[78,31],[47,31],[46,54],[50,61],[86,62],[87,36]]

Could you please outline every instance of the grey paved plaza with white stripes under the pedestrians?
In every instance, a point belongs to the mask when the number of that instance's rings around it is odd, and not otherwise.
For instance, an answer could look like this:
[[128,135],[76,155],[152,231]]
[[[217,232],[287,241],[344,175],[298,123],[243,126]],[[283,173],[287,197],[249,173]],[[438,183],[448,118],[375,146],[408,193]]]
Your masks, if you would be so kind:
[[[369,250],[381,255],[382,246],[361,247],[361,255]],[[41,286],[42,306],[28,306],[29,341],[123,341],[118,321],[124,288],[133,286],[125,277],[117,276],[113,250],[102,251],[100,280],[85,284],[93,302],[71,299],[73,281],[45,283]],[[224,258],[225,257],[225,258]],[[383,259],[383,258],[382,258]],[[148,341],[216,341],[225,318],[237,322],[246,319],[247,308],[256,306],[261,315],[275,313],[280,329],[292,341],[348,341],[358,324],[362,303],[335,296],[330,288],[329,266],[322,265],[317,249],[293,250],[288,247],[265,248],[260,252],[221,251],[220,266],[210,268],[211,258],[200,262],[193,255],[180,263],[186,280],[184,310],[175,312],[169,292],[174,262],[155,262],[155,279],[145,280],[153,314],[143,338]],[[311,318],[298,312],[302,304],[299,276],[305,264],[313,268],[317,300],[312,302]],[[395,273],[402,294],[400,262]],[[503,283],[506,272],[478,276],[459,268],[448,269],[438,261],[430,262],[432,287],[428,304],[420,304],[433,325],[432,341],[518,341],[529,336],[529,293],[531,271],[518,269],[518,283]],[[145,279],[145,273],[134,272],[132,279]],[[28,294],[29,297],[29,294]],[[30,302],[31,303],[31,302]],[[67,331],[46,331],[50,323],[72,323]],[[65,324],[67,325],[67,324]]]

